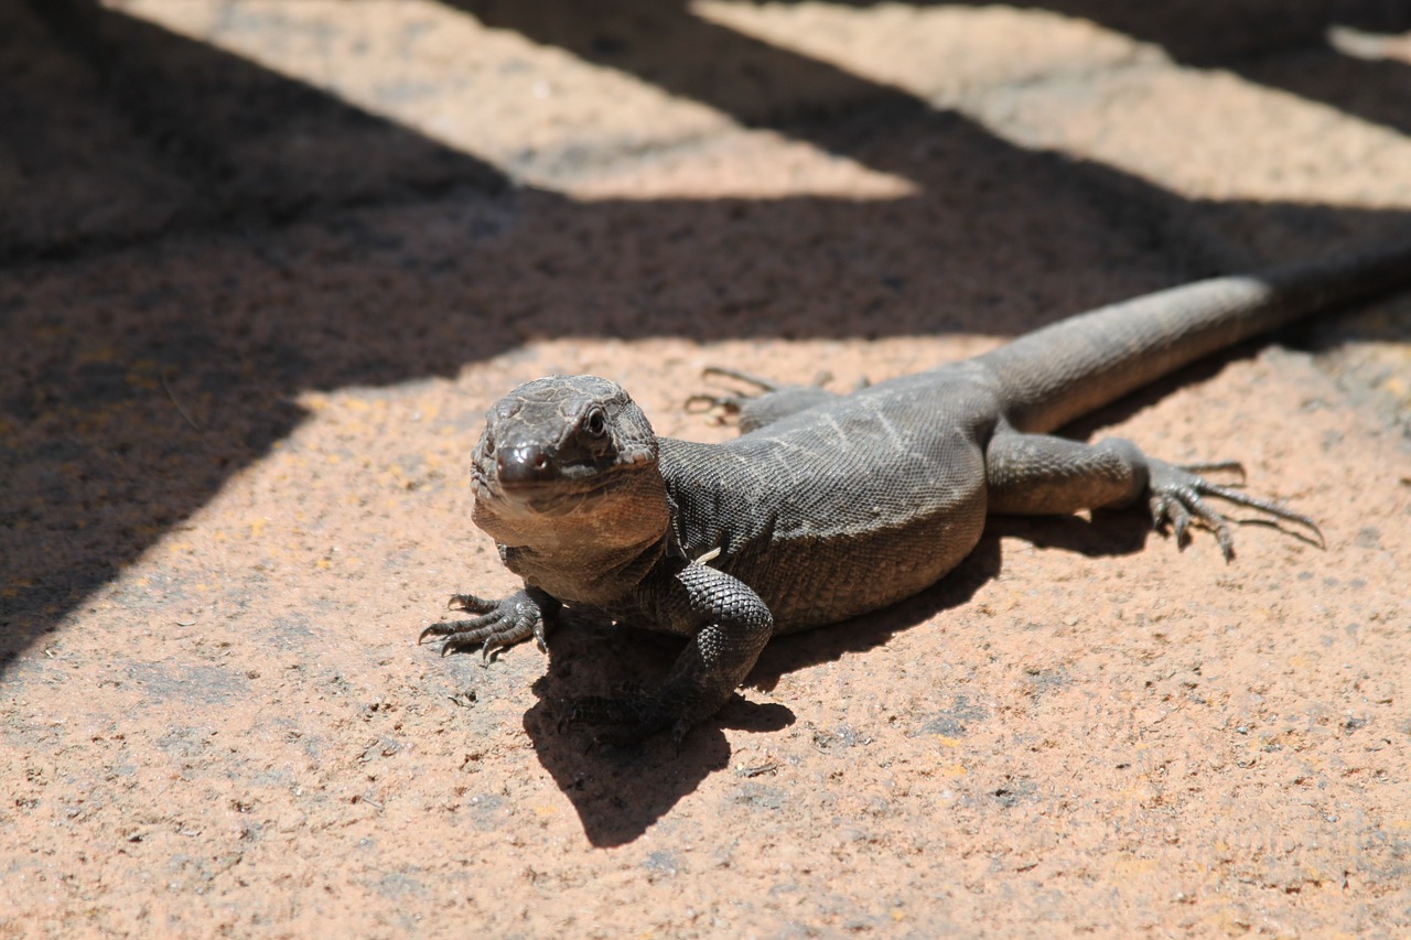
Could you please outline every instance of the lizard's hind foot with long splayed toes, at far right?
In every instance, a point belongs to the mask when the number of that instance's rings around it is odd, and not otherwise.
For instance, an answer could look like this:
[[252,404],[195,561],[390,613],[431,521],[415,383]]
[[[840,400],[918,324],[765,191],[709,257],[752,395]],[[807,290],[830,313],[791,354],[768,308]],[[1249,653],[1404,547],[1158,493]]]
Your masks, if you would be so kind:
[[1301,525],[1312,532],[1319,548],[1325,545],[1318,524],[1307,515],[1285,510],[1273,500],[1247,495],[1233,486],[1211,483],[1201,476],[1202,473],[1212,471],[1233,471],[1243,480],[1245,467],[1239,463],[1170,464],[1161,460],[1151,460],[1150,470],[1149,505],[1151,510],[1151,522],[1158,531],[1165,531],[1170,526],[1180,548],[1185,548],[1191,542],[1191,524],[1195,522],[1215,534],[1215,539],[1219,542],[1221,553],[1226,562],[1235,558],[1235,538],[1230,534],[1229,519],[1202,498],[1208,495],[1267,512],[1276,519]]

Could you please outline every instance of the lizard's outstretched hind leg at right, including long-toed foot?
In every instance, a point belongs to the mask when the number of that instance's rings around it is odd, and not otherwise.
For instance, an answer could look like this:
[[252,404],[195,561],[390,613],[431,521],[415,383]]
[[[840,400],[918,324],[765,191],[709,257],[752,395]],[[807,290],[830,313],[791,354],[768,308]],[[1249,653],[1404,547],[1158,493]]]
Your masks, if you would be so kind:
[[1129,440],[1112,438],[1085,445],[1048,435],[1024,435],[1000,428],[985,449],[989,511],[1013,515],[1054,515],[1099,507],[1126,507],[1146,498],[1156,528],[1167,525],[1177,545],[1189,542],[1197,522],[1215,534],[1221,552],[1235,556],[1229,521],[1205,497],[1267,512],[1311,531],[1322,532],[1307,515],[1270,500],[1218,486],[1201,476],[1209,470],[1240,470],[1237,463],[1180,466],[1149,457]]

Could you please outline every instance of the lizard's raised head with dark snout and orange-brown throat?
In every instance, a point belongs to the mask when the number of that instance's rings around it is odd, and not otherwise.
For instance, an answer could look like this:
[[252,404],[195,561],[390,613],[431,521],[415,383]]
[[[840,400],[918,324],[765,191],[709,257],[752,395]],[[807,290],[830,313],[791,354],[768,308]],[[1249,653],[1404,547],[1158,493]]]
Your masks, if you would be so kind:
[[474,522],[538,553],[621,550],[670,522],[656,433],[617,382],[550,375],[485,414],[474,453]]

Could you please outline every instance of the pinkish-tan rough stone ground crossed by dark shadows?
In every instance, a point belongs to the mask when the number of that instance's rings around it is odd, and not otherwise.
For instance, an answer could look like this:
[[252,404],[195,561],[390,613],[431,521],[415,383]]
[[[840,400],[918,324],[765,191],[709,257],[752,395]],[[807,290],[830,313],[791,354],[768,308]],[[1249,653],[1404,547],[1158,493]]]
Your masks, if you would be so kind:
[[[1141,13],[1143,6],[1160,11]],[[0,937],[1411,933],[1411,296],[1085,419],[1326,548],[1007,519],[669,741],[515,587],[484,409],[662,435],[1411,230],[1398,4],[0,4]],[[886,572],[878,572],[886,577]]]

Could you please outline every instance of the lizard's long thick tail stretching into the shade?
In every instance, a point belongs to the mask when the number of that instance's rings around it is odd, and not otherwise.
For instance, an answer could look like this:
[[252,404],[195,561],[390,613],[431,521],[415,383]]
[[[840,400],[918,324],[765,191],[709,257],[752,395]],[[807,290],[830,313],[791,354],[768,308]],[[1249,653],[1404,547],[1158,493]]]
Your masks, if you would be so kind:
[[1219,277],[1079,313],[979,357],[1005,416],[1050,432],[1202,356],[1322,311],[1411,287],[1411,243]]

